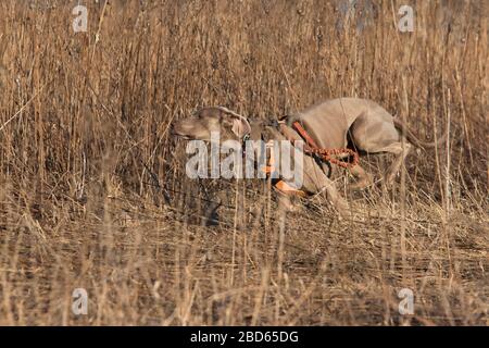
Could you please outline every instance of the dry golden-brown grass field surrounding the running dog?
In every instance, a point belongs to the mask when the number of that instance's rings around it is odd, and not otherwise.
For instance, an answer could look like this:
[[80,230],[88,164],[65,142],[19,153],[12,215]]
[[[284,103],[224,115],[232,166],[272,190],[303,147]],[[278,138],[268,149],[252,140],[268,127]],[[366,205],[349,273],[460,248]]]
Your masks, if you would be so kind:
[[[412,34],[399,1],[344,29],[333,1],[90,1],[85,34],[75,3],[0,3],[0,324],[489,323],[484,1],[418,1]],[[280,234],[260,183],[186,178],[168,134],[198,105],[273,117],[338,96],[421,138],[450,121],[450,147],[411,154],[403,185],[347,190],[350,219],[318,198]]]

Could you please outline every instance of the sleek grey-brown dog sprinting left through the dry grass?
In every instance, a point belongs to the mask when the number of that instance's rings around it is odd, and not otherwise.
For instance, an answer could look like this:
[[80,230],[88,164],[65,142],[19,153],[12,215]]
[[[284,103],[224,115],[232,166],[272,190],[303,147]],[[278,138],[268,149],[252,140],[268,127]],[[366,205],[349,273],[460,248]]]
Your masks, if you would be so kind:
[[[263,121],[252,121],[226,108],[211,107],[199,110],[191,117],[178,121],[173,128],[175,135],[186,139],[210,140],[211,132],[218,132],[221,141],[250,138],[259,139],[302,139],[292,122],[300,122],[308,134],[319,148],[335,149],[353,145],[361,153],[389,152],[394,160],[385,175],[385,183],[391,184],[399,172],[402,162],[410,152],[412,145],[427,148],[443,142],[444,136],[436,142],[424,142],[400,120],[392,117],[384,108],[374,101],[359,98],[339,98],[315,104],[306,110],[288,116],[286,123],[274,127]],[[339,212],[348,211],[348,203],[339,195],[334,183],[325,171],[324,163],[318,163],[313,157],[304,156],[302,191],[314,195],[325,190],[329,201]],[[373,184],[372,175],[360,165],[351,169],[356,181],[354,189],[362,189]],[[281,197],[281,196],[280,196]],[[284,198],[284,197],[283,197]],[[281,201],[284,203],[284,201]],[[286,198],[285,204],[290,206]]]

